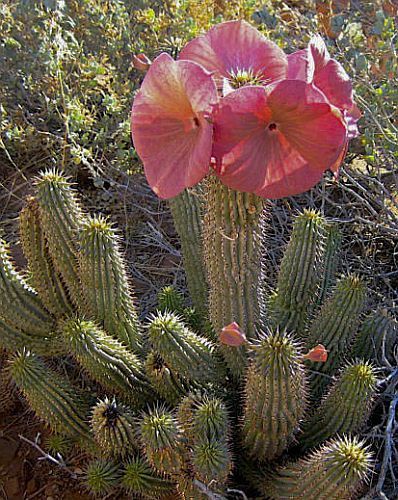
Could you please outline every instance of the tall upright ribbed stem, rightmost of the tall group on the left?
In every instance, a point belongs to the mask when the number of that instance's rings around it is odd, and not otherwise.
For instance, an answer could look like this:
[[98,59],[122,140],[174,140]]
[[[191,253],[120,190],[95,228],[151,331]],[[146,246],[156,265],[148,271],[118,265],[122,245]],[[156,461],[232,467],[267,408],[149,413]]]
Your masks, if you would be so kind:
[[129,349],[142,339],[118,237],[102,217],[87,219],[80,233],[79,265],[85,312]]

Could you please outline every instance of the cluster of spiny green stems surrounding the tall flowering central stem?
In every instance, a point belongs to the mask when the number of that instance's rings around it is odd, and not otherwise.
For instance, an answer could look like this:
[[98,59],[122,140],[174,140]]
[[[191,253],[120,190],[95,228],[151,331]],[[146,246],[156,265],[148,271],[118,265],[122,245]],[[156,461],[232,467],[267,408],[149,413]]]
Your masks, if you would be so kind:
[[[295,218],[261,324],[233,347],[172,287],[142,323],[115,230],[86,214],[56,171],[36,191],[20,216],[25,273],[1,243],[1,388],[17,387],[48,425],[49,451],[79,446],[92,457],[92,493],[206,498],[239,484],[276,499],[353,498],[372,469],[354,435],[396,325],[363,318],[358,276],[334,284],[335,227],[314,211]],[[234,350],[243,366],[230,363]],[[87,384],[49,363],[65,356]]]

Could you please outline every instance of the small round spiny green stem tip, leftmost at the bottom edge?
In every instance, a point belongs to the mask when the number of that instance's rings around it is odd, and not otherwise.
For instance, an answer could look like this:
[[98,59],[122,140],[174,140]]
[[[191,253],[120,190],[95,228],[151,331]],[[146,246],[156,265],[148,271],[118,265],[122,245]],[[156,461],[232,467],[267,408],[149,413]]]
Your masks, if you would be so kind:
[[85,470],[85,483],[93,495],[106,495],[120,483],[119,466],[107,460],[93,460]]

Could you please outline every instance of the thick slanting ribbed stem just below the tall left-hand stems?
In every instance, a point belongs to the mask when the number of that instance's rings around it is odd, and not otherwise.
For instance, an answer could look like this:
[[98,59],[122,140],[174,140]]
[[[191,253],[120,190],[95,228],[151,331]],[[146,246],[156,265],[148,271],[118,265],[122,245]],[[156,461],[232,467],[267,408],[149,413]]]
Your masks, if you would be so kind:
[[138,357],[91,321],[70,320],[61,326],[73,356],[94,380],[134,404],[153,395]]

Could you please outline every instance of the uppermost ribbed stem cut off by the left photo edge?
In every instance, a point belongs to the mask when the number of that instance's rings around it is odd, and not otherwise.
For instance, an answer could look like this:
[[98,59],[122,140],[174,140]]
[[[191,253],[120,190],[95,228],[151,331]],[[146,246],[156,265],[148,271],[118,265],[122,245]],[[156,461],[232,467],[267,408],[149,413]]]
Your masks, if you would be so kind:
[[11,328],[46,336],[54,320],[37,293],[15,269],[9,247],[0,239],[0,318]]

